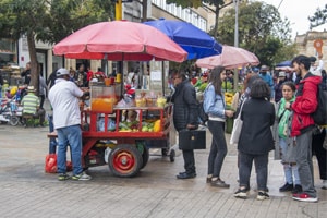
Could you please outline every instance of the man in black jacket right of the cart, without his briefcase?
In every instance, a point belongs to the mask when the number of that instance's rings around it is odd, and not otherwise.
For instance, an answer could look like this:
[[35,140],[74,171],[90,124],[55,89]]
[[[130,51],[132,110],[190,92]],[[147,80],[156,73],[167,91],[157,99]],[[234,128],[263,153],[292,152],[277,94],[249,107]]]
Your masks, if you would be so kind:
[[[184,73],[173,74],[175,92],[172,96],[173,124],[178,132],[189,129],[197,129],[198,106],[196,101],[195,88],[186,78]],[[185,147],[185,146],[182,146]],[[196,177],[195,160],[193,149],[183,149],[185,172],[180,172],[178,179],[190,179]]]

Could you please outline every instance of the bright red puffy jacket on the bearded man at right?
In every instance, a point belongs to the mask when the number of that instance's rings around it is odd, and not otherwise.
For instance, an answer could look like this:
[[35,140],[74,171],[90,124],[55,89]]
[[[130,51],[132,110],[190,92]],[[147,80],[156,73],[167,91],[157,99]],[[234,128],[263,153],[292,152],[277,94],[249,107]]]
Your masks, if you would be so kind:
[[317,88],[322,76],[306,74],[298,87],[295,101],[292,104],[293,120],[291,136],[301,135],[305,130],[315,124],[312,113],[316,110]]

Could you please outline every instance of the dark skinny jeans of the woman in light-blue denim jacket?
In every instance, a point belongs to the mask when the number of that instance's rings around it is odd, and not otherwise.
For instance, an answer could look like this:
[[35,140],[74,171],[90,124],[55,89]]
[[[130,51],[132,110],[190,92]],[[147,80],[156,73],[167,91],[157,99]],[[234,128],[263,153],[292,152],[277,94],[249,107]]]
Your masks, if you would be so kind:
[[214,178],[220,178],[223,159],[227,155],[225,122],[209,120],[208,128],[213,134],[211,148],[208,158],[208,174],[213,174]]

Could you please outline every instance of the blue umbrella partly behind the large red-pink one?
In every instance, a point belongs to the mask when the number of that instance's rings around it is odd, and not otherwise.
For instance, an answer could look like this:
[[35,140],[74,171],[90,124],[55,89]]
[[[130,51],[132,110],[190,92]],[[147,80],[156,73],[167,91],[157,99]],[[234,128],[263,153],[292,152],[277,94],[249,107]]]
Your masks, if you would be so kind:
[[220,44],[187,22],[159,19],[144,22],[144,24],[156,27],[180,45],[189,53],[189,60],[221,53],[222,46]]

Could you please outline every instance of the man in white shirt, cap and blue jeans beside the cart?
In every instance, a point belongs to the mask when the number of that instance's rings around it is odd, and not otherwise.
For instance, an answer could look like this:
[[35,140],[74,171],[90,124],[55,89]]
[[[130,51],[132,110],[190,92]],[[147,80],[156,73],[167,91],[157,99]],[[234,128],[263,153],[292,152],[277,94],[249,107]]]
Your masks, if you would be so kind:
[[70,179],[66,174],[66,147],[70,145],[73,165],[73,180],[90,180],[82,168],[82,130],[78,98],[83,92],[70,81],[66,69],[57,71],[56,84],[49,90],[49,100],[53,108],[53,124],[58,133],[58,180]]

